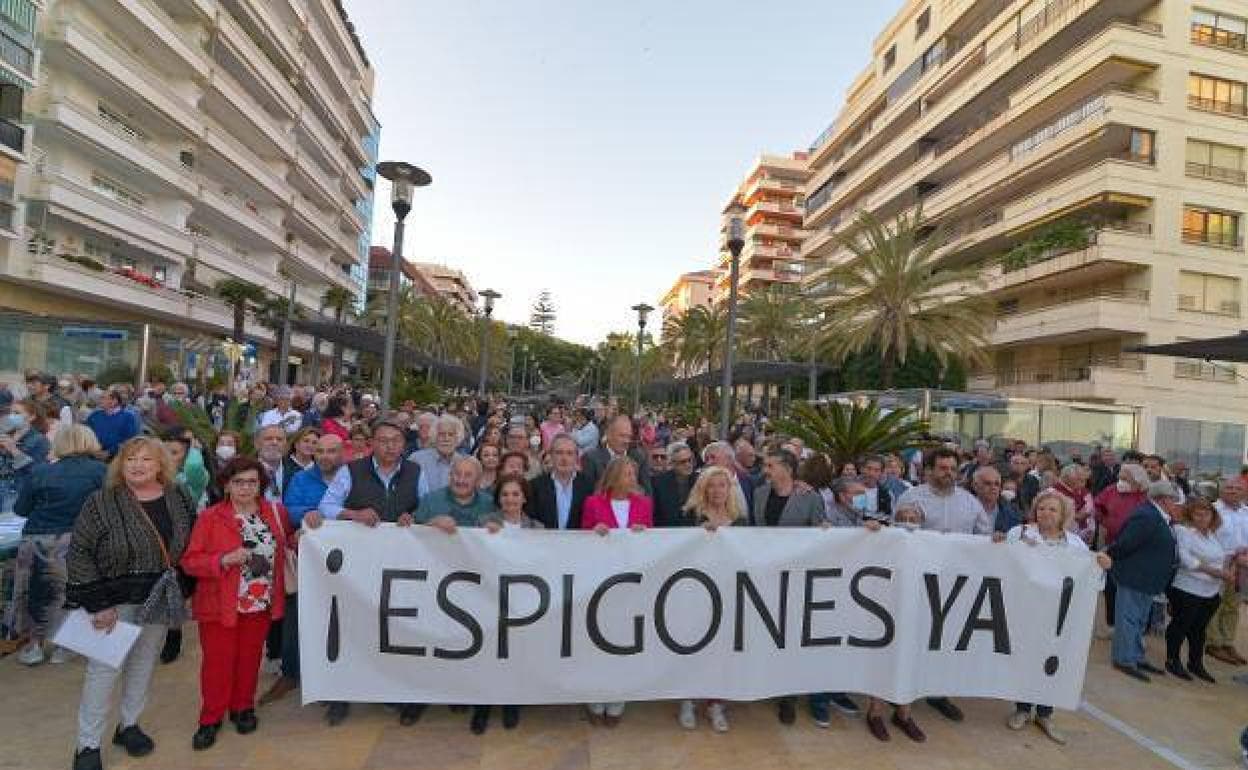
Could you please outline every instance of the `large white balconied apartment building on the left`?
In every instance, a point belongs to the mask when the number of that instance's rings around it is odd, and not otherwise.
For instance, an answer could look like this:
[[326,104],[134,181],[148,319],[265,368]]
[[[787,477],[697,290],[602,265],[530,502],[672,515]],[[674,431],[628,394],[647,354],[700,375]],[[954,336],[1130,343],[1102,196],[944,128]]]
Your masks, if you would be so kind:
[[[16,4],[0,0],[0,26]],[[149,322],[220,369],[213,351],[232,327],[213,296],[223,280],[293,293],[310,311],[336,286],[362,305],[378,125],[373,71],[341,2],[41,6],[25,225],[0,255],[0,307],[79,326]],[[250,321],[246,333],[266,371],[275,333]],[[311,351],[296,334],[295,362]],[[0,371],[92,363],[47,332],[0,343]]]

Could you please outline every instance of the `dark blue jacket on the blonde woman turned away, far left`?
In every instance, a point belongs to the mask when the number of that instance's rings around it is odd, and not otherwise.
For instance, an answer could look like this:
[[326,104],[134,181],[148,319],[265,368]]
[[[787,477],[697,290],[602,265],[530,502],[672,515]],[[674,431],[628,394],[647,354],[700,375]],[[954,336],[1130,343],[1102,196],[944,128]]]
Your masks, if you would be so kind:
[[107,465],[74,454],[35,468],[17,495],[14,512],[26,519],[22,534],[72,532],[82,503],[104,485]]

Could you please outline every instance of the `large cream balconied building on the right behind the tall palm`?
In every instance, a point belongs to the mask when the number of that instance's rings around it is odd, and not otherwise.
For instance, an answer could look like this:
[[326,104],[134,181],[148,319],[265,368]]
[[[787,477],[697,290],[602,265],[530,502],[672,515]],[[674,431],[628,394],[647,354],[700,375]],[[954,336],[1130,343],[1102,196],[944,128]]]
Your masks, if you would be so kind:
[[1246,41],[1233,0],[910,0],[810,150],[802,253],[921,207],[995,309],[973,388],[1138,406],[1144,449],[1238,470],[1236,368],[1127,351],[1243,326]]

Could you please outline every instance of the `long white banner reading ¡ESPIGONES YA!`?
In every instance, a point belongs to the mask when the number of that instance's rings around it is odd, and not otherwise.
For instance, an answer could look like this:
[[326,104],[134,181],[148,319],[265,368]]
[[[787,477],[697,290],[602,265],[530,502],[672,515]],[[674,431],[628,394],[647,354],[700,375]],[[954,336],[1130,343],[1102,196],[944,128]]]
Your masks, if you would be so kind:
[[305,701],[845,691],[1073,709],[1092,554],[885,529],[368,529],[300,544]]

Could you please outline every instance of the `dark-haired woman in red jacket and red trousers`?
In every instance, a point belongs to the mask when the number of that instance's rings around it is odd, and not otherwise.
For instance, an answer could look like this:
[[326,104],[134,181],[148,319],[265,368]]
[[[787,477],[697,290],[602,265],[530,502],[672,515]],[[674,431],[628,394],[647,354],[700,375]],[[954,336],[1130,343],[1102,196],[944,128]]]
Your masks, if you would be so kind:
[[286,609],[287,514],[265,499],[268,473],[240,457],[221,469],[225,499],[200,514],[182,569],[198,578],[191,610],[200,624],[200,729],[191,746],[217,740],[226,711],[241,735],[253,733],[256,680],[270,623]]

